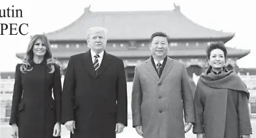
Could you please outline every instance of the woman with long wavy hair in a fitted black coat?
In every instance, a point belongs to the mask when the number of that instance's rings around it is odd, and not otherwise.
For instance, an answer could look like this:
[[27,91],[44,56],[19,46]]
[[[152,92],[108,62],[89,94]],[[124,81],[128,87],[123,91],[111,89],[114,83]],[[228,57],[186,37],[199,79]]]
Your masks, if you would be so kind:
[[10,116],[13,137],[60,137],[60,67],[54,63],[49,46],[45,35],[34,35],[27,57],[16,66]]

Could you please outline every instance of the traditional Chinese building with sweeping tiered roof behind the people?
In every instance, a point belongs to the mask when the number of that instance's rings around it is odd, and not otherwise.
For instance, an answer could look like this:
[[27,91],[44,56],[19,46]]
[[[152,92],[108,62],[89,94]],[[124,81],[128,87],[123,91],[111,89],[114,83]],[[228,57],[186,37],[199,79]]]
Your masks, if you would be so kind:
[[[86,33],[93,26],[108,29],[106,52],[123,59],[127,81],[132,81],[135,65],[150,57],[148,43],[154,32],[161,31],[170,36],[168,55],[185,63],[190,77],[205,70],[205,50],[209,44],[227,43],[235,35],[193,23],[181,13],[180,6],[175,6],[174,10],[145,12],[92,12],[85,8],[70,25],[45,34],[51,42],[52,54],[62,65],[63,74],[71,55],[89,50]],[[227,52],[227,68],[237,72],[237,60],[248,55],[250,50],[227,47]],[[25,54],[16,55],[24,57]]]

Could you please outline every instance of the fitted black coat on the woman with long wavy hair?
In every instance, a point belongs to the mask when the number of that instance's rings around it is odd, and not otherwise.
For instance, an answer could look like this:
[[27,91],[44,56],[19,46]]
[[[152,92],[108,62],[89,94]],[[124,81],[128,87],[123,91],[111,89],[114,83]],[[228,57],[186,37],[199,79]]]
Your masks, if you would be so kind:
[[60,68],[54,65],[50,74],[45,60],[30,65],[32,70],[25,74],[21,64],[16,66],[10,125],[17,124],[19,138],[53,138],[54,124],[61,119]]

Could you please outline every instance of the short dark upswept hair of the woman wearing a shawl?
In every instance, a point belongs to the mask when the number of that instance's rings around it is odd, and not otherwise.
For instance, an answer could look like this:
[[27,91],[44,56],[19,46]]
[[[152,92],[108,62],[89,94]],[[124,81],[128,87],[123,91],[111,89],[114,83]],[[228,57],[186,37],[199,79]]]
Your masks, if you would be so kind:
[[210,46],[207,47],[206,54],[208,59],[210,59],[211,51],[215,49],[222,50],[224,52],[225,60],[227,59],[227,49],[223,42],[211,43]]

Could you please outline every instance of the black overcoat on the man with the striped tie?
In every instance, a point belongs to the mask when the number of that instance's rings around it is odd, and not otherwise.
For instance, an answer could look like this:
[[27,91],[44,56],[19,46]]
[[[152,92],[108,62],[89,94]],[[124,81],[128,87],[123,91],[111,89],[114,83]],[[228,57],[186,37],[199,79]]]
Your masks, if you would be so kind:
[[69,59],[62,97],[62,123],[75,121],[72,138],[115,138],[127,126],[127,90],[122,59],[104,51],[95,74],[90,50]]

